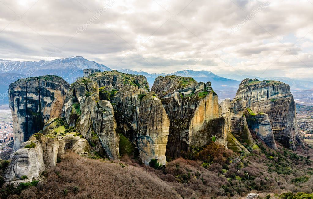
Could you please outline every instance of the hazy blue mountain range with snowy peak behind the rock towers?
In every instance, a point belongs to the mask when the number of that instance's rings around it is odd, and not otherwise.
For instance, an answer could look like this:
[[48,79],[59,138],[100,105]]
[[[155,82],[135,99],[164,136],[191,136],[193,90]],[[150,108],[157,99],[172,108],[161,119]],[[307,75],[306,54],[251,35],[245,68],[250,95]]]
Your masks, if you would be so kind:
[[[13,61],[0,59],[0,104],[7,104],[8,86],[11,82],[21,78],[43,75],[61,76],[65,81],[73,83],[76,78],[83,76],[83,70],[86,68],[95,68],[100,71],[111,71],[111,69],[103,64],[98,64],[95,61],[87,60],[81,56],[72,56],[65,59],[56,60],[40,60],[40,61]],[[261,78],[249,75],[216,75],[210,71],[193,71],[183,70],[176,71],[170,74],[150,74],[144,71],[134,71],[131,69],[118,70],[123,73],[133,75],[146,76],[149,86],[152,87],[154,80],[158,76],[177,75],[183,77],[192,77],[198,82],[210,81],[214,91],[218,94],[219,99],[233,98],[241,80],[249,77],[259,80],[271,79],[282,81],[290,85],[292,92],[301,90],[310,90],[313,88],[313,81],[295,80],[286,77],[269,77]]]

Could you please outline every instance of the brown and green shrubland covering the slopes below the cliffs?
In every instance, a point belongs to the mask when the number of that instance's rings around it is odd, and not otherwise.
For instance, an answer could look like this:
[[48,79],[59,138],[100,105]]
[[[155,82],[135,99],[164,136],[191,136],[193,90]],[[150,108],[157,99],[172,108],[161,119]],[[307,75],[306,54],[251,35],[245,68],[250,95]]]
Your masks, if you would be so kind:
[[259,147],[261,152],[234,153],[212,142],[182,152],[166,167],[157,160],[151,160],[151,166],[141,164],[129,152],[131,147],[124,149],[121,162],[68,153],[43,174],[42,186],[19,189],[19,196],[9,189],[1,194],[3,198],[238,198],[258,192],[263,198],[310,198],[298,192],[313,190],[312,149]]

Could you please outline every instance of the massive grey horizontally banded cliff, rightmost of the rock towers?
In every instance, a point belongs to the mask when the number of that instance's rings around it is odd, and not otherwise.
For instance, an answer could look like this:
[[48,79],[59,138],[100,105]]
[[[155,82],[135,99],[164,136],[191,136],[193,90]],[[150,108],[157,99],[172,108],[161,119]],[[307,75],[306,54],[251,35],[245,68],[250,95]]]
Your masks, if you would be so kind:
[[295,101],[289,85],[247,78],[239,85],[236,97],[253,112],[268,114],[277,142],[294,150],[296,144],[303,144],[296,126]]

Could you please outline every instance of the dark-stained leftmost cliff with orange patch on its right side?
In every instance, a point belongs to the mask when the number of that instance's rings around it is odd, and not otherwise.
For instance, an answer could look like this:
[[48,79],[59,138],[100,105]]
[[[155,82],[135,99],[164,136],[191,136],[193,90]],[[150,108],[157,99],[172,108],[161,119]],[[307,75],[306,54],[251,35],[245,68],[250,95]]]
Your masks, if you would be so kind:
[[49,118],[61,115],[68,90],[66,81],[51,75],[18,80],[9,86],[15,151],[40,131]]

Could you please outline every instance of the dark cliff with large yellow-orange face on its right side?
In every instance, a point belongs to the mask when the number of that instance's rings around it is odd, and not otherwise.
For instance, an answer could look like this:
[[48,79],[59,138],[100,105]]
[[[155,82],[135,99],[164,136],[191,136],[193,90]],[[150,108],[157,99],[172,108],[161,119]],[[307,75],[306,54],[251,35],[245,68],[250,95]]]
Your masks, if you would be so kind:
[[167,153],[177,157],[181,150],[203,146],[216,136],[227,146],[224,119],[211,83],[191,77],[159,76],[152,91],[160,97],[170,119]]

